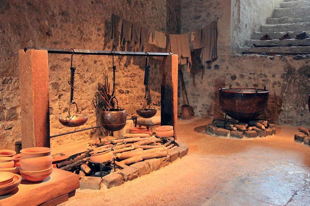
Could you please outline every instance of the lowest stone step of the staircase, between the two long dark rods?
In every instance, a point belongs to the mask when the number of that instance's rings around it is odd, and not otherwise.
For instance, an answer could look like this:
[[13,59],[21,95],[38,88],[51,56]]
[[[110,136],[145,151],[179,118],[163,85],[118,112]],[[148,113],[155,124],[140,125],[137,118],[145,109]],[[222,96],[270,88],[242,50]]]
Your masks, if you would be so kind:
[[244,47],[243,52],[258,52],[258,53],[310,53],[310,46],[305,47]]

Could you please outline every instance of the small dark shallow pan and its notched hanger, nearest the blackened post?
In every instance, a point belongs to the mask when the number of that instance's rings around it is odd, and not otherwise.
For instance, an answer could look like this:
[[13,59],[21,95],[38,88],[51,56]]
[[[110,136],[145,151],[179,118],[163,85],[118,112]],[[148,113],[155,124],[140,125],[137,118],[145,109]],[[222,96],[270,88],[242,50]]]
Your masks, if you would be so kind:
[[142,106],[142,109],[137,109],[136,112],[137,114],[140,116],[140,117],[143,117],[143,118],[151,118],[153,117],[157,110],[156,109],[152,109],[151,108],[151,102],[152,102],[152,99],[151,99],[151,94],[150,94],[150,90],[148,88],[148,79],[149,79],[149,74],[150,74],[150,68],[151,66],[148,65],[148,56],[146,56],[146,59],[145,59],[145,71],[144,71],[144,85],[145,85],[145,95],[144,95],[144,99],[147,101],[148,103],[148,109],[145,109],[143,106]]

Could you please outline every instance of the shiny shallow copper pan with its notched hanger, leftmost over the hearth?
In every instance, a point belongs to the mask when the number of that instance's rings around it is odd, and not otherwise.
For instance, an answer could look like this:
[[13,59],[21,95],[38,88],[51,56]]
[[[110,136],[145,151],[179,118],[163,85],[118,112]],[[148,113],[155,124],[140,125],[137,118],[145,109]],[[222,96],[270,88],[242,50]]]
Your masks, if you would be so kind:
[[[77,103],[73,101],[74,99],[73,98],[74,97],[74,73],[75,73],[76,68],[72,66],[74,49],[72,50],[73,50],[73,53],[71,54],[70,81],[68,82],[71,87],[70,106],[68,109],[68,114],[63,114],[58,117],[58,120],[60,121],[60,123],[66,127],[78,127],[78,126],[85,124],[88,120],[88,115],[81,113],[81,111],[78,110]],[[76,113],[71,115],[70,109],[73,104],[76,106]]]

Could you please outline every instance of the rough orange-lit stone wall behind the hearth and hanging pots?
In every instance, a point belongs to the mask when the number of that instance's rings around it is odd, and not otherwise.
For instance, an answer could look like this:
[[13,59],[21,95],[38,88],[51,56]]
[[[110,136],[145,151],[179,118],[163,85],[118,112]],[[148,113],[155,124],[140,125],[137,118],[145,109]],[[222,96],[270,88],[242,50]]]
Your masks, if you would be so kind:
[[[169,5],[168,5],[169,6]],[[175,6],[175,5],[172,5]],[[171,8],[168,9],[173,10]],[[144,27],[166,31],[166,0],[87,0],[39,1],[3,0],[0,2],[0,149],[14,148],[20,140],[20,91],[18,49],[26,46],[111,50],[111,14],[126,18]],[[176,24],[177,20],[172,21]],[[170,25],[173,31],[177,26]],[[119,48],[118,48],[119,49]],[[148,51],[159,51],[150,47]],[[70,55],[49,54],[51,135],[72,131],[58,122],[66,113],[70,101]],[[128,117],[141,108],[144,100],[144,63],[142,57],[116,57],[117,98]],[[160,106],[161,61],[150,59],[150,88],[154,104]],[[73,56],[77,68],[75,101],[89,115],[80,128],[96,125],[92,104],[98,82],[107,72],[112,83],[112,58],[103,56]],[[112,84],[111,84],[112,88]],[[80,129],[79,128],[79,129]],[[53,138],[51,145],[90,137],[86,131]]]

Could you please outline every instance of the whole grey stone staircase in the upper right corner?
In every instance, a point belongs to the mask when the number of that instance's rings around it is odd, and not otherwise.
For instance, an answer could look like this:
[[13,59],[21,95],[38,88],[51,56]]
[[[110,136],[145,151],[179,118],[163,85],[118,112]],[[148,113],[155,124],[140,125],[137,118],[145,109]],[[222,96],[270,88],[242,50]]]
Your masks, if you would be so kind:
[[[310,38],[295,39],[296,34],[304,31],[310,36],[310,0],[284,0],[281,8],[275,8],[273,17],[268,18],[266,24],[261,25],[260,30],[254,32],[250,40],[246,40],[246,45],[241,50],[255,53],[310,53],[310,46],[261,48],[253,46],[253,44],[310,44]],[[279,40],[286,32],[290,33],[292,39]],[[260,40],[266,33],[272,40]]]

